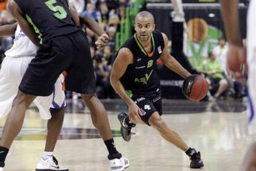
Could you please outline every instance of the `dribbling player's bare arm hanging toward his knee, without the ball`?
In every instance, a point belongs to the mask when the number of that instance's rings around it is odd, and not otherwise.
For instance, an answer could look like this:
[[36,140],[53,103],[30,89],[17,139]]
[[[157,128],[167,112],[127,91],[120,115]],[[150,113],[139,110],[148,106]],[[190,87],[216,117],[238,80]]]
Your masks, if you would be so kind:
[[122,100],[129,107],[129,117],[130,120],[139,123],[140,122],[140,109],[135,104],[135,102],[130,99],[124,90],[124,86],[120,81],[120,78],[126,72],[127,66],[134,62],[134,57],[132,56],[132,52],[130,52],[127,48],[121,48],[117,54],[116,59],[114,60],[114,64],[112,66],[111,74],[110,74],[110,83],[113,86],[114,90],[117,94],[122,98]]

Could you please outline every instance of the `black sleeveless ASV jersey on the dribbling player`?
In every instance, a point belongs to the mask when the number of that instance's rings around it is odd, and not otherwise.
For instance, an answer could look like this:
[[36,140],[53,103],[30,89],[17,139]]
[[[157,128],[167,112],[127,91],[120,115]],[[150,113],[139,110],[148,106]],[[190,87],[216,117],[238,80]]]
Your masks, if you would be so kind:
[[153,31],[151,43],[153,45],[153,56],[151,57],[143,49],[136,34],[121,46],[121,48],[130,49],[134,57],[133,64],[128,65],[120,79],[130,96],[132,94],[150,94],[160,90],[160,77],[156,67],[156,60],[159,59],[164,49],[163,35],[160,31]]

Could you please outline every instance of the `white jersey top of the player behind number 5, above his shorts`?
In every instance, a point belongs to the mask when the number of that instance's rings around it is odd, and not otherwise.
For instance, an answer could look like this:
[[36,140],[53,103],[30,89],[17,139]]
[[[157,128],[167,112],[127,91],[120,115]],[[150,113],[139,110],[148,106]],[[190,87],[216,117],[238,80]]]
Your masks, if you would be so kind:
[[5,52],[7,57],[35,57],[38,46],[23,33],[19,24],[15,31],[14,45]]

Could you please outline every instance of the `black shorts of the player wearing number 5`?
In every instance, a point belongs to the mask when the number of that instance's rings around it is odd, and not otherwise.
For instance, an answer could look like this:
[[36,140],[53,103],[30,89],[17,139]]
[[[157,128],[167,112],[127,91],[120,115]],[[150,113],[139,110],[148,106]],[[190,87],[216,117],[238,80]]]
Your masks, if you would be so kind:
[[28,65],[19,90],[35,96],[49,96],[62,72],[66,72],[66,90],[95,93],[89,43],[82,31],[57,36],[44,43]]

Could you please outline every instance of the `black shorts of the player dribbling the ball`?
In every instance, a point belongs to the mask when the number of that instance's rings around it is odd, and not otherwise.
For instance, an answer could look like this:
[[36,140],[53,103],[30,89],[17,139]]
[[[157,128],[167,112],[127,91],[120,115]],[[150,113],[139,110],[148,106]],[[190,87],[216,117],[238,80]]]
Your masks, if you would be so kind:
[[140,118],[148,126],[150,126],[148,119],[150,119],[154,112],[158,112],[160,116],[162,115],[161,93],[147,95],[134,94],[134,96],[132,96],[132,100],[140,107],[140,111],[143,114],[140,115]]

